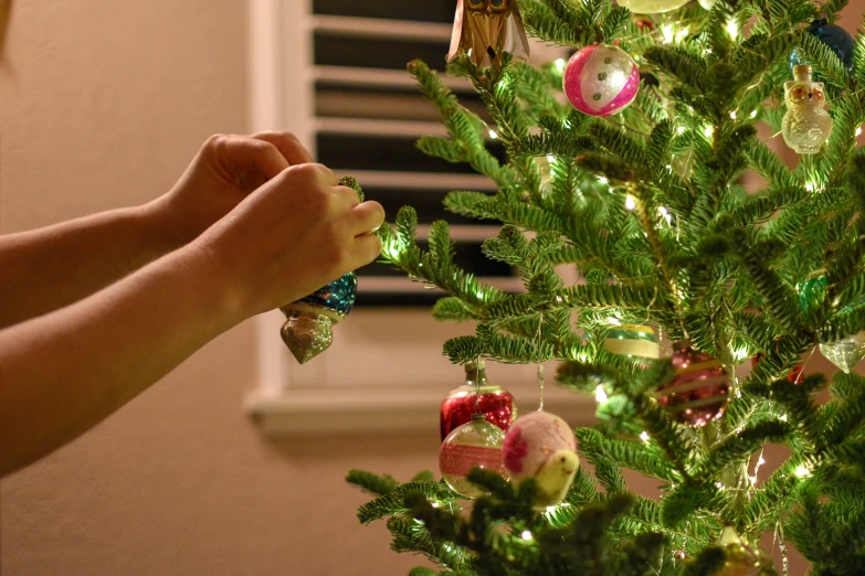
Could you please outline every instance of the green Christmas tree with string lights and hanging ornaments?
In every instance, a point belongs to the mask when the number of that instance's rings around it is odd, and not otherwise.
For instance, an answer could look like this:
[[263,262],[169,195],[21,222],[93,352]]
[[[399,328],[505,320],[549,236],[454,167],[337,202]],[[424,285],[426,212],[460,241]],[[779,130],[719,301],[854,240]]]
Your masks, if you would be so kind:
[[[441,574],[787,573],[767,533],[811,574],[865,573],[865,377],[850,373],[865,356],[865,45],[833,24],[845,0],[683,3],[461,0],[447,74],[486,116],[409,64],[450,134],[419,148],[498,186],[446,207],[502,223],[484,254],[525,290],[461,269],[445,222],[422,249],[411,207],[380,231],[382,258],[447,292],[435,318],[476,322],[444,353],[478,386],[483,359],[557,360],[559,385],[599,401],[573,445],[555,416],[503,440],[482,412],[462,465],[499,460],[462,484],[349,473],[375,494],[361,522],[386,520],[393,550]],[[529,65],[524,25],[573,56]],[[792,169],[766,143],[779,134]],[[831,382],[801,373],[816,349],[843,371]],[[767,444],[790,456],[760,477]],[[661,497],[631,493],[624,469]]]

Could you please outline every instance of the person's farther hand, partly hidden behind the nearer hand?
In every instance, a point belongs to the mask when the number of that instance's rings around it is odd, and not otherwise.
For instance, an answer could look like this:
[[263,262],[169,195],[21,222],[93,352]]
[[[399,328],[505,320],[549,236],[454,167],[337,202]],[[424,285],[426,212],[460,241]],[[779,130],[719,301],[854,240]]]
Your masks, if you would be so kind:
[[191,242],[286,168],[313,161],[291,132],[211,136],[165,195],[148,204],[167,239]]

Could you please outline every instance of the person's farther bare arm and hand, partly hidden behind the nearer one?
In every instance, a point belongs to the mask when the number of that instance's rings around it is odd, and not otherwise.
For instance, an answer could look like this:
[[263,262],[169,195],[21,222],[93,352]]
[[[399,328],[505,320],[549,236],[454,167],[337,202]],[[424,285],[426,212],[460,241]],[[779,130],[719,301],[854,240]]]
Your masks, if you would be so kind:
[[265,180],[310,161],[287,132],[214,136],[147,204],[0,236],[0,328],[75,302],[189,243]]

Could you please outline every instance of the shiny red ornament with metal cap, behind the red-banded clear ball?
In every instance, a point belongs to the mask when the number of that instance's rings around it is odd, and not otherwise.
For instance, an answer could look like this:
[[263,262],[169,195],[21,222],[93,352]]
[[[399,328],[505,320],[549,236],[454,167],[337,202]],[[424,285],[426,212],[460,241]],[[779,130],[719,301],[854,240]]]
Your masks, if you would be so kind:
[[514,396],[505,388],[486,380],[484,362],[465,365],[465,384],[454,388],[442,402],[439,428],[442,440],[457,426],[470,422],[473,414],[483,414],[486,422],[507,431],[517,416]]

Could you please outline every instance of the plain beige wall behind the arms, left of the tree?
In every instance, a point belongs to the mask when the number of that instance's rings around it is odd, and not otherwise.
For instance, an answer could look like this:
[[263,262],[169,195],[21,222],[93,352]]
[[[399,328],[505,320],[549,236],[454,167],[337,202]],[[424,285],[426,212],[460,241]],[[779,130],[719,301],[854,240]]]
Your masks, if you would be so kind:
[[[0,71],[0,232],[165,190],[208,135],[244,130],[244,52],[241,0],[17,0]],[[342,477],[434,467],[434,424],[410,437],[263,441],[240,408],[253,342],[240,326],[3,480],[0,572],[398,575],[419,564],[388,550],[383,526],[357,524],[365,497]]]

